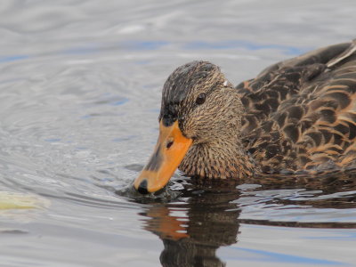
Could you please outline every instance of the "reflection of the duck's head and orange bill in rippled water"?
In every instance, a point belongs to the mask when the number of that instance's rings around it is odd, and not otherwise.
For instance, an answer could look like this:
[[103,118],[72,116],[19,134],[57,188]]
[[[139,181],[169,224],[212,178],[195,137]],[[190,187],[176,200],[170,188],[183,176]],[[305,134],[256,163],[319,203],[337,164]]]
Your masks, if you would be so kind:
[[237,242],[239,208],[232,200],[237,190],[185,191],[179,203],[156,203],[142,215],[145,229],[162,239],[163,266],[225,266],[216,250]]

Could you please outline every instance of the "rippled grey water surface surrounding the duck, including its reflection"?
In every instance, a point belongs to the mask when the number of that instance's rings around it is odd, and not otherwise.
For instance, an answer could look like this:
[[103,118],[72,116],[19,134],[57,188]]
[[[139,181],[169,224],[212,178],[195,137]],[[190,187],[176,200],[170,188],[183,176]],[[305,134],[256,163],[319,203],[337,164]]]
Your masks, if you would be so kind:
[[2,1],[1,265],[354,265],[352,187],[209,188],[177,174],[142,199],[126,186],[156,142],[173,69],[213,61],[238,84],[354,38],[355,12],[353,1]]

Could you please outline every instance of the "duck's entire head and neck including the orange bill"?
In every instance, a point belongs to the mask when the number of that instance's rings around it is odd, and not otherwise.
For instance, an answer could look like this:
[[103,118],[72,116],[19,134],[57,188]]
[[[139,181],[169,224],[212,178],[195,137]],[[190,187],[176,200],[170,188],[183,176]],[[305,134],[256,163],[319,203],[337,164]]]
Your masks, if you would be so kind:
[[160,190],[178,166],[188,175],[237,175],[242,111],[236,89],[214,64],[193,61],[175,69],[163,87],[156,148],[134,188]]

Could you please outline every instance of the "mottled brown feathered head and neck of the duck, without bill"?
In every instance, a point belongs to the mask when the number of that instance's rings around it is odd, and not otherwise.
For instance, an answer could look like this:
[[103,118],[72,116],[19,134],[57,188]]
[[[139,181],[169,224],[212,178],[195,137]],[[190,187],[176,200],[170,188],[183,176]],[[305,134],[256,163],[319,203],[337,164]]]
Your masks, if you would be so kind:
[[[197,104],[201,93],[206,101]],[[256,166],[239,133],[243,111],[238,91],[214,64],[194,61],[176,69],[164,85],[159,120],[166,126],[178,120],[193,140],[180,169],[210,178],[252,175]]]

